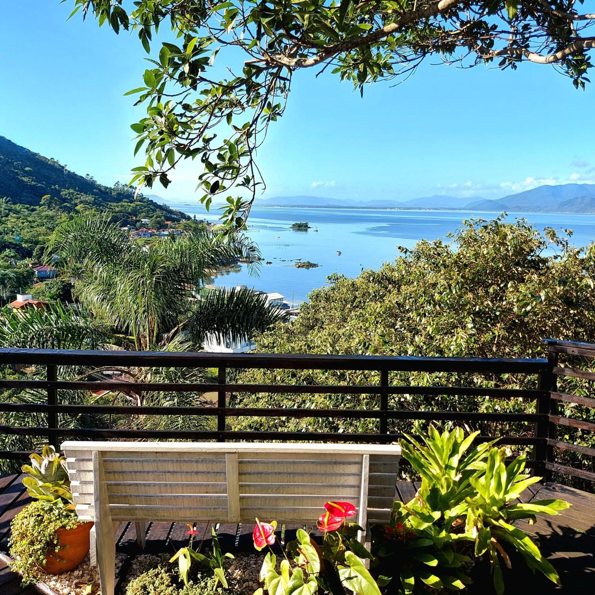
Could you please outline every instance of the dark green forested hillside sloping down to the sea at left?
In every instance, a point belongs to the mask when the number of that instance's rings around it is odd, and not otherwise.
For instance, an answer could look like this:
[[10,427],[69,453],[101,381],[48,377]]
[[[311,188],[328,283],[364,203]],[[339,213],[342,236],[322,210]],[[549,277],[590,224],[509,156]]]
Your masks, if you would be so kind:
[[56,159],[33,153],[3,136],[0,201],[0,252],[14,249],[27,258],[38,256],[55,227],[77,213],[108,211],[114,223],[122,224],[135,224],[131,217],[187,218],[142,195],[135,197],[125,184],[102,186],[91,176],[79,176]]

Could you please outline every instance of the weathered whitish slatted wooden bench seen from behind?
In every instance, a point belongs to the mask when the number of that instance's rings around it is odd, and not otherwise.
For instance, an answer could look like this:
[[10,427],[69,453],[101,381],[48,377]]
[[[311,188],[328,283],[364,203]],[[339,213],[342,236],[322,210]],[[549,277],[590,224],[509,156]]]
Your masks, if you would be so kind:
[[[62,444],[82,521],[95,521],[102,595],[114,593],[114,525],[265,522],[315,526],[328,500],[350,502],[361,527],[387,522],[400,447],[376,444]],[[363,505],[362,505],[363,503]]]

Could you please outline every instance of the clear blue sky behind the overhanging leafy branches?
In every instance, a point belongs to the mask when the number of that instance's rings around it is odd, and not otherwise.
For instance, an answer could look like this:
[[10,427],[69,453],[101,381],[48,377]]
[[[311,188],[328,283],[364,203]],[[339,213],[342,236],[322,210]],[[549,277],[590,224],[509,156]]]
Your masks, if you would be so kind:
[[[113,184],[128,181],[130,124],[144,114],[123,93],[142,84],[136,36],[115,36],[73,3],[20,0],[0,22],[0,134]],[[155,45],[155,48],[157,46]],[[218,60],[241,64],[236,54]],[[433,62],[437,62],[434,59]],[[265,197],[498,198],[544,183],[595,181],[595,89],[553,68],[460,70],[430,62],[364,99],[338,77],[296,73],[286,115],[258,155]],[[179,168],[165,198],[196,198],[199,164]]]

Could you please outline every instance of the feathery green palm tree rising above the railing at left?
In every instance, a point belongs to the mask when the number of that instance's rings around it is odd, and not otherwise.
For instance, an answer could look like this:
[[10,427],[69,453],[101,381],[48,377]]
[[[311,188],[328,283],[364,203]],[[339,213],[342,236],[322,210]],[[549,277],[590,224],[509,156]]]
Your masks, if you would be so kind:
[[64,268],[83,265],[76,295],[137,350],[171,350],[174,340],[201,349],[211,333],[245,340],[283,318],[250,290],[199,292],[220,267],[242,261],[258,270],[259,250],[240,234],[223,242],[205,227],[141,243],[115,229],[109,215],[75,217],[52,234],[46,258]]

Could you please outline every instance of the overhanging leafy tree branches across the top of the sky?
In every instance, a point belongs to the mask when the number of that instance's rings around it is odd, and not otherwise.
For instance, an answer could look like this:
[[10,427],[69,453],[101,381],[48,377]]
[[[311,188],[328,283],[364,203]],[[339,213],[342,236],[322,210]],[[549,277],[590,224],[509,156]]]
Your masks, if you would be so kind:
[[[67,0],[63,0],[67,1]],[[134,30],[146,52],[164,21],[143,84],[129,92],[147,115],[132,129],[145,165],[134,181],[167,186],[182,160],[199,158],[201,201],[228,196],[223,219],[242,227],[264,183],[254,161],[268,125],[283,115],[293,73],[327,68],[361,93],[368,83],[406,76],[428,57],[449,64],[549,64],[584,87],[595,14],[575,0],[74,0],[116,33]],[[228,76],[218,76],[226,51]],[[236,52],[233,52],[236,48]],[[238,52],[237,50],[240,50]],[[229,58],[245,61],[235,69]],[[227,129],[226,129],[227,126]],[[221,136],[221,138],[220,138]]]

